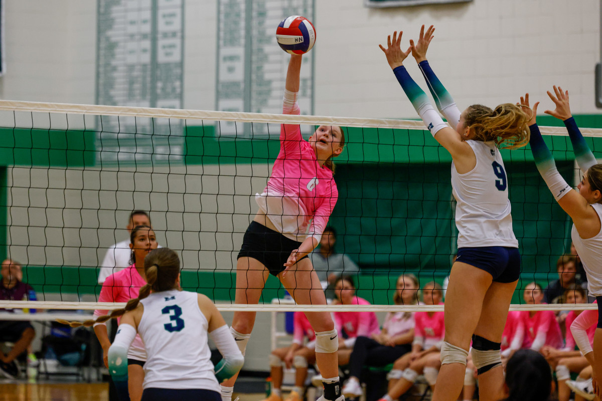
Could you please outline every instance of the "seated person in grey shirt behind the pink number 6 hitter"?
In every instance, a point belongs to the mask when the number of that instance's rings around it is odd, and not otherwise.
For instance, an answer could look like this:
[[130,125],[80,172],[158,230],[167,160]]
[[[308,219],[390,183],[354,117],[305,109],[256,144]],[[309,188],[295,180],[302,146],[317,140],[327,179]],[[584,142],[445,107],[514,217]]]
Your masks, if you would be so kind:
[[334,299],[334,285],[341,275],[356,275],[359,273],[358,265],[346,254],[335,253],[337,231],[334,227],[327,226],[320,239],[320,246],[308,255],[314,270],[322,283],[327,283],[326,298]]

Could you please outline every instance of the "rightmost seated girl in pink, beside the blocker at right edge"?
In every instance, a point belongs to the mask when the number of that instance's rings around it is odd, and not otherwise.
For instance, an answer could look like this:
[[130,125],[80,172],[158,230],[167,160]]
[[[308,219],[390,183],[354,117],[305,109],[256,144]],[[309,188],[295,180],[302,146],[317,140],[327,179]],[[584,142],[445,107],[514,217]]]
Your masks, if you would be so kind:
[[[562,299],[564,304],[585,304],[585,290],[582,288],[570,288],[565,290]],[[576,343],[571,333],[571,324],[583,311],[569,311],[566,315],[566,336],[565,347],[555,349],[550,346],[543,346],[541,354],[548,361],[552,369],[556,370],[556,380],[558,381],[558,401],[568,401],[571,397],[571,389],[566,385],[566,381],[571,379],[571,372],[579,373],[585,367],[589,366],[588,360],[576,348]],[[594,342],[595,326],[587,329],[588,338],[591,343]]]

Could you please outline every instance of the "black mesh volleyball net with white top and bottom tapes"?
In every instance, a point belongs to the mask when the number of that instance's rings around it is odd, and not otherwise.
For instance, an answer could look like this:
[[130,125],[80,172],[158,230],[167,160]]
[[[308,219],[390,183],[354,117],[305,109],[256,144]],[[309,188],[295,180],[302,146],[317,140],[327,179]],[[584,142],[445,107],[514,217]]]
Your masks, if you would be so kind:
[[[353,272],[356,293],[373,304],[368,308],[399,310],[392,304],[400,274],[414,274],[421,287],[444,282],[458,235],[451,158],[422,121],[2,100],[0,259],[23,265],[23,281],[38,301],[0,301],[0,307],[117,307],[97,303],[99,268],[107,249],[129,238],[132,210],[144,210],[157,242],[181,258],[182,287],[208,295],[222,310],[346,310],[272,305],[285,296],[274,277],[260,305],[234,305],[237,254],[257,210],[255,194],[278,155],[282,123],[300,124],[304,138],[319,125],[344,128],[329,224],[337,231],[335,251],[360,268]],[[580,171],[566,129],[541,130],[560,174],[576,186]],[[602,152],[602,130],[581,130],[594,154]],[[529,147],[501,154],[523,257],[513,308],[529,308],[521,305],[526,285],[545,288],[559,278],[556,262],[570,253],[571,221]]]

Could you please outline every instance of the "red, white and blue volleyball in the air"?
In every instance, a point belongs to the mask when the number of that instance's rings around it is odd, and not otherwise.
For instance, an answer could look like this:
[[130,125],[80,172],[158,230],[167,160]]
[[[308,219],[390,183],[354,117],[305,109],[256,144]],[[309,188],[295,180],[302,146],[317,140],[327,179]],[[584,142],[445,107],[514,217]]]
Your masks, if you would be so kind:
[[305,17],[290,16],[278,24],[276,40],[287,53],[305,54],[314,47],[314,25]]

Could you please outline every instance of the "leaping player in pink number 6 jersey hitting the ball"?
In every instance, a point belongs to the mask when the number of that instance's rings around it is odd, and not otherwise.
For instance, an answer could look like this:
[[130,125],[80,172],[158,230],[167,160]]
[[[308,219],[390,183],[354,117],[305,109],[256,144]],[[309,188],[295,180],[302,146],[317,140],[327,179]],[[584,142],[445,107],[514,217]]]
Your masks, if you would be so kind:
[[[291,55],[284,93],[284,114],[300,114],[297,105],[302,56]],[[282,124],[280,153],[272,176],[255,199],[259,210],[247,228],[238,253],[237,304],[257,304],[269,274],[278,277],[298,305],[326,305],[318,275],[307,255],[321,234],[338,198],[332,177],[332,158],[343,152],[345,136],[338,126],[323,125],[302,138],[297,124]],[[340,401],[338,334],[327,312],[308,312],[316,335],[316,361],[324,376],[323,399]],[[237,311],[231,331],[246,349],[255,324],[255,312]],[[234,378],[222,384],[222,400],[232,399]]]

